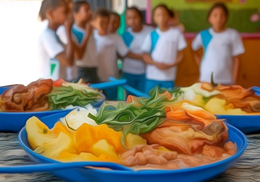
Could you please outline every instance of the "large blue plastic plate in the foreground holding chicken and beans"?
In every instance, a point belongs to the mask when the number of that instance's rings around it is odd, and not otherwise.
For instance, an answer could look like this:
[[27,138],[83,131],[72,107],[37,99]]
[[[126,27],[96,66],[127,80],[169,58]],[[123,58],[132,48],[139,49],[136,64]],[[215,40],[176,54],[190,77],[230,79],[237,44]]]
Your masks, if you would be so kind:
[[[85,167],[75,167],[75,163],[60,163],[48,159],[44,156],[41,156],[37,153],[34,153],[27,141],[27,133],[25,127],[20,131],[18,139],[21,142],[21,145],[24,147],[24,149],[32,157],[32,159],[39,162],[39,164],[35,165],[37,166],[37,169],[39,169],[39,167],[42,166],[43,170],[50,171],[55,176],[67,182],[157,182],[161,180],[172,182],[203,182],[208,181],[213,177],[216,177],[217,175],[226,171],[227,168],[230,167],[241,156],[241,154],[244,152],[246,148],[247,144],[244,134],[229,124],[227,124],[227,126],[229,128],[228,141],[231,140],[232,142],[236,142],[237,145],[238,152],[235,155],[225,160],[221,160],[208,165],[178,170],[140,170],[135,172],[131,170],[103,170],[90,169]],[[57,168],[55,168],[54,166],[57,166]],[[80,166],[80,163],[78,163],[78,166]],[[33,166],[29,166],[27,168],[18,167],[16,168],[16,172],[24,173],[28,170],[30,171],[33,169]]]

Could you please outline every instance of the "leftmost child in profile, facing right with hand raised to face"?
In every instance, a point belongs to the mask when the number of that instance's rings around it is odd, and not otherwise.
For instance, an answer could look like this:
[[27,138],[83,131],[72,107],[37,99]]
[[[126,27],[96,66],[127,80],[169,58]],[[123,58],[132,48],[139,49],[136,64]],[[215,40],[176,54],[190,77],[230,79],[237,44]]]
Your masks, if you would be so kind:
[[[71,41],[71,28],[73,24],[73,18],[67,18],[67,4],[63,0],[44,0],[41,4],[39,15],[42,20],[48,19],[48,26],[39,36],[39,59],[41,62],[41,78],[53,78],[58,79],[63,77],[59,75],[61,69],[66,66],[73,65],[73,46]],[[66,33],[68,36],[67,46],[63,45],[59,37],[56,34],[56,30],[60,25],[65,23]],[[57,75],[52,75],[50,61],[56,60],[60,67],[60,72]]]

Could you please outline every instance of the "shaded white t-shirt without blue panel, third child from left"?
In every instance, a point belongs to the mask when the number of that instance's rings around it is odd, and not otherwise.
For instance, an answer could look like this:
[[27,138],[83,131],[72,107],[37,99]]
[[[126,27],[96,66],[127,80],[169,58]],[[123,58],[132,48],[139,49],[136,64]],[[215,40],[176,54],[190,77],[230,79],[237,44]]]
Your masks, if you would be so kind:
[[93,33],[96,43],[96,61],[99,63],[99,79],[104,82],[108,81],[109,76],[118,77],[116,53],[125,57],[128,54],[128,48],[118,35],[99,35],[96,29]]

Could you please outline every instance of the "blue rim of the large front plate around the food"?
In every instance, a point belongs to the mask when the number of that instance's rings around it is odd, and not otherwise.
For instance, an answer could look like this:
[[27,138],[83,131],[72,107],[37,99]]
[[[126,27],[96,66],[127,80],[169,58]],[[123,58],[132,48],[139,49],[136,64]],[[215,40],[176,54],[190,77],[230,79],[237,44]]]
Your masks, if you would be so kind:
[[[194,171],[194,170],[203,170],[205,168],[209,168],[209,167],[214,167],[216,165],[221,165],[223,163],[227,163],[228,161],[232,161],[232,160],[235,160],[235,159],[238,159],[242,153],[244,153],[246,147],[247,147],[247,140],[246,140],[246,137],[245,135],[240,131],[238,130],[236,127],[228,124],[228,123],[225,123],[228,127],[228,130],[229,128],[232,128],[232,130],[235,130],[237,133],[239,133],[244,142],[244,145],[242,146],[242,150],[239,150],[235,155],[231,156],[231,157],[228,157],[227,159],[224,159],[224,160],[220,160],[220,161],[217,161],[217,162],[214,162],[214,163],[210,163],[210,164],[206,164],[206,165],[202,165],[202,166],[198,166],[198,167],[189,167],[189,168],[183,168],[183,169],[176,169],[176,170],[154,170],[154,169],[151,169],[151,170],[138,170],[138,171],[121,171],[121,170],[102,170],[102,169],[88,169],[88,170],[97,170],[98,172],[102,172],[102,173],[115,173],[115,174],[124,174],[124,173],[131,173],[131,174],[172,174],[172,173],[183,173],[183,172],[191,172],[191,171]],[[25,129],[25,126],[20,130],[19,134],[18,134],[18,140],[19,142],[21,143],[22,147],[24,147],[24,149],[26,150],[26,152],[28,153],[32,153],[32,155],[35,155],[35,153],[33,152],[33,150],[29,147],[27,147],[24,143],[23,143],[23,140],[22,140],[22,133],[23,131],[25,130],[26,132],[26,129]],[[228,140],[229,141],[229,140]],[[47,157],[44,157],[42,155],[39,155],[37,154],[37,157],[42,159],[42,160],[46,160],[46,161],[49,161],[50,163],[62,163],[62,162],[59,162],[59,161],[56,161],[56,160],[52,160],[52,159],[49,159]],[[75,162],[74,162],[75,163]],[[104,162],[106,163],[106,162]],[[66,163],[66,164],[69,164],[69,163]],[[121,165],[121,164],[119,164]],[[123,166],[123,165],[121,165]],[[124,166],[125,167],[125,166]],[[87,168],[86,168],[87,169]]]

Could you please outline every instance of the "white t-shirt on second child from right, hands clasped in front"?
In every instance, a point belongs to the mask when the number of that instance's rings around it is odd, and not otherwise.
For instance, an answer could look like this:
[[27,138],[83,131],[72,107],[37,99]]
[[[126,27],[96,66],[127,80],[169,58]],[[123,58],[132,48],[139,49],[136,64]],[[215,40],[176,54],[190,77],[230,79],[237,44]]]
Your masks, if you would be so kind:
[[[141,46],[142,51],[151,52],[154,62],[173,64],[176,62],[178,51],[187,47],[184,35],[179,29],[169,28],[162,32],[159,28],[152,31]],[[169,69],[159,69],[155,65],[148,64],[145,70],[147,79],[157,81],[174,81],[176,79],[177,66]]]

